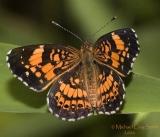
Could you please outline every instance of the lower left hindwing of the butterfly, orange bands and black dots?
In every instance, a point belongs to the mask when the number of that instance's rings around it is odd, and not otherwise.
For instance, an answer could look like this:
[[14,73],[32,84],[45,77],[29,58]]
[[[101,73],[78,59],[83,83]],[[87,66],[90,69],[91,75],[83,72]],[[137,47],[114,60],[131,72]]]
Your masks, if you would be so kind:
[[48,93],[50,112],[62,120],[75,121],[93,114],[82,71],[80,63],[54,83]]

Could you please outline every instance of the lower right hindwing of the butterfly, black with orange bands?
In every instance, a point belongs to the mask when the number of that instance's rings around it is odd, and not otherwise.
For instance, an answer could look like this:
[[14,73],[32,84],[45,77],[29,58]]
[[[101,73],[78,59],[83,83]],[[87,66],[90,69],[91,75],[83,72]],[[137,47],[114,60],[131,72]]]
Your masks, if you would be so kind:
[[114,114],[119,111],[125,97],[124,83],[114,70],[99,63],[96,66],[97,93],[100,94],[96,111],[98,114]]

